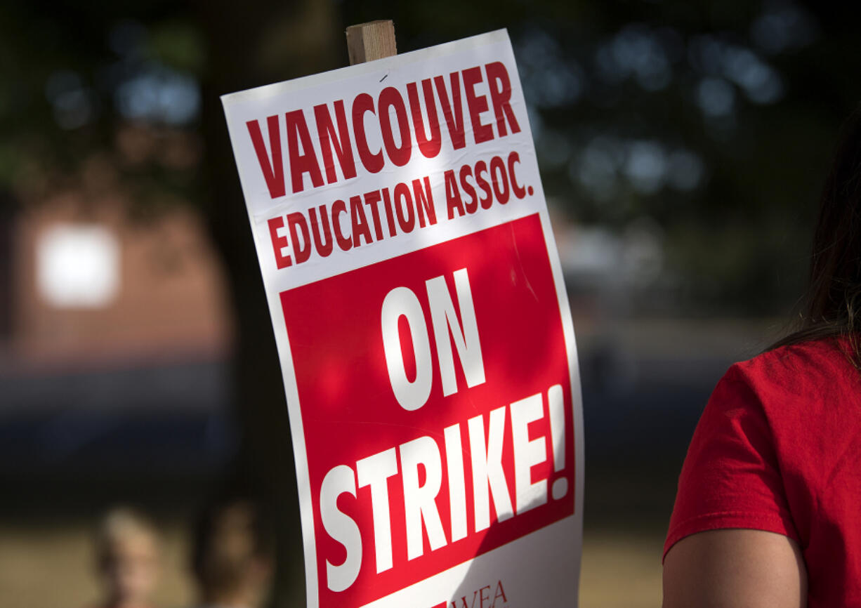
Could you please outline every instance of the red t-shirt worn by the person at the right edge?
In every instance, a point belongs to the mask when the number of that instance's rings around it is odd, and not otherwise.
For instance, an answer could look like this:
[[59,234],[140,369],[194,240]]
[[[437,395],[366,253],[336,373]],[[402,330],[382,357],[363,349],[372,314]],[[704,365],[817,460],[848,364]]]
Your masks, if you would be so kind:
[[861,606],[861,372],[834,340],[735,363],[697,425],[664,555],[703,530],[793,538],[808,606]]

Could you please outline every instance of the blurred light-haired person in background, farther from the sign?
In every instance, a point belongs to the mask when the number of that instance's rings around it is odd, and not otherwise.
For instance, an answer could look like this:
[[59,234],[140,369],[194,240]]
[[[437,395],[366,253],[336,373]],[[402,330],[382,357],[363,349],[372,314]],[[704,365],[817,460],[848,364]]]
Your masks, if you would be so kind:
[[109,511],[96,530],[96,570],[104,597],[98,608],[150,608],[158,581],[158,532],[139,512]]

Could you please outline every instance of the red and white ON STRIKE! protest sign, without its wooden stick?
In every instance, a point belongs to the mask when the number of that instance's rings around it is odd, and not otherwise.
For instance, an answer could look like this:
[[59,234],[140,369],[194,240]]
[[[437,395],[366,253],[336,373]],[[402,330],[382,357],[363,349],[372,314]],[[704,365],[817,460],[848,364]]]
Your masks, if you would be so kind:
[[223,102],[308,605],[576,605],[573,324],[508,34]]

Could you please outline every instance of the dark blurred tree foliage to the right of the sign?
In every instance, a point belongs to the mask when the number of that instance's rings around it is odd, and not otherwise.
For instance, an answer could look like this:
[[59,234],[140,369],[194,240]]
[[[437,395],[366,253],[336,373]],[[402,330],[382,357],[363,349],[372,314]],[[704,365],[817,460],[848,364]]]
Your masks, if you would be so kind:
[[[648,226],[673,310],[785,313],[840,123],[861,102],[841,2],[344,3],[411,50],[508,28],[550,203]],[[638,307],[649,310],[647,301]]]

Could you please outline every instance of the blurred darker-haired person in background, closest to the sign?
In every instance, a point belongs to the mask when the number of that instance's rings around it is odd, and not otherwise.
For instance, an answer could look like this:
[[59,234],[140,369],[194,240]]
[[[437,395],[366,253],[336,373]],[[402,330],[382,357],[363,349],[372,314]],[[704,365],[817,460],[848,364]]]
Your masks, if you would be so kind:
[[269,591],[273,540],[263,507],[220,499],[201,515],[191,555],[201,608],[256,608]]

